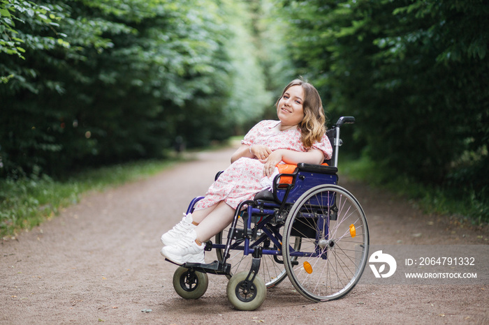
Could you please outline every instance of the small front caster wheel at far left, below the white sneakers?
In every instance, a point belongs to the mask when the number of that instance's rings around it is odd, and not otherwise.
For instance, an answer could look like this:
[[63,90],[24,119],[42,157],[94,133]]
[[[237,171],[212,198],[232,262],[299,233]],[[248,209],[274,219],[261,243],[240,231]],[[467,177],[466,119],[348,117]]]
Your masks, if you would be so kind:
[[173,273],[173,287],[179,296],[185,299],[198,299],[207,291],[209,278],[201,273],[179,266]]

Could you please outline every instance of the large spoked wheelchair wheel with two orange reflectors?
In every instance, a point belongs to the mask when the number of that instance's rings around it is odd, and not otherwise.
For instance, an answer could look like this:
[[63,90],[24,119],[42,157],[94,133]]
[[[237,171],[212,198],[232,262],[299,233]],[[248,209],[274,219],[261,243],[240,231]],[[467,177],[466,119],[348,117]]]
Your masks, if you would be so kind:
[[[362,207],[340,186],[321,185],[292,206],[282,253],[295,289],[312,301],[342,298],[365,269],[369,234]],[[300,250],[293,249],[296,238]]]

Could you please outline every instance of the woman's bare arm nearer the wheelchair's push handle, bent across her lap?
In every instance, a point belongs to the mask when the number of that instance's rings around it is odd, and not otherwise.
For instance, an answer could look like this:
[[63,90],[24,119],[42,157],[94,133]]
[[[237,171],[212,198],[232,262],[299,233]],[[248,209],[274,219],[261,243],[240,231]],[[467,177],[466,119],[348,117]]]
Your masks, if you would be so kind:
[[298,164],[299,162],[305,162],[307,164],[319,165],[324,160],[323,151],[319,149],[310,149],[306,152],[298,152],[287,149],[279,149],[270,153],[265,160],[260,160],[265,164],[263,167],[263,175],[270,177],[273,174],[275,166],[284,161],[287,164]]

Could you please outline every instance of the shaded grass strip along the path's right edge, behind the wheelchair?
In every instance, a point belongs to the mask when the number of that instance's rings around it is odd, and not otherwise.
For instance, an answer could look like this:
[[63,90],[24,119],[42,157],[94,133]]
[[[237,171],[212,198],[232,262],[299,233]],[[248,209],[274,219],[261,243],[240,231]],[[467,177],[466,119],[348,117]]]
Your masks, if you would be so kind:
[[377,188],[386,188],[407,197],[414,206],[429,214],[455,216],[472,225],[488,225],[489,199],[471,188],[460,186],[426,186],[406,176],[390,176],[376,169],[368,158],[340,158],[338,165],[349,179],[363,181]]

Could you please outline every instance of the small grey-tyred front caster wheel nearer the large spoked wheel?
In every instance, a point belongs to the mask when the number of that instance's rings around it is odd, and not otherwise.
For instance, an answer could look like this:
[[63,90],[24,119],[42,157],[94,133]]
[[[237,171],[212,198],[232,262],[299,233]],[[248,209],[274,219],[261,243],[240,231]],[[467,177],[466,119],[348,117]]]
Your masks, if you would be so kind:
[[267,295],[265,281],[256,275],[253,282],[247,283],[248,273],[249,271],[242,271],[233,275],[226,287],[229,302],[238,310],[255,310],[261,306]]

